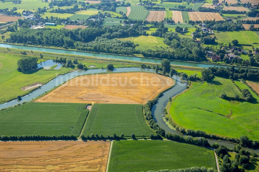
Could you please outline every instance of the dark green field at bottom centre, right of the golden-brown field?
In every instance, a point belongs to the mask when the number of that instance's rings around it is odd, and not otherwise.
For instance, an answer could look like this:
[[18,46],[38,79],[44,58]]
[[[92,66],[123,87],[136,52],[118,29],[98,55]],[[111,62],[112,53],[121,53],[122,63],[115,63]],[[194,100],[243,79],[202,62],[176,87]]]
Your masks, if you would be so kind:
[[212,150],[169,140],[115,140],[108,171],[156,171],[202,166],[216,168]]

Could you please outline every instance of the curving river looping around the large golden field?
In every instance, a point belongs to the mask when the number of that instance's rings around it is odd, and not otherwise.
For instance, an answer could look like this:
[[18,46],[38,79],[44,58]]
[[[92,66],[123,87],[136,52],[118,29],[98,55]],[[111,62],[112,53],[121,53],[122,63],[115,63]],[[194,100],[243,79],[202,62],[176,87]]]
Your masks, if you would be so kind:
[[[86,74],[97,74],[97,73],[107,73],[107,72],[116,72],[116,73],[117,72],[152,72],[152,73],[155,73],[155,69],[131,67],[131,68],[116,68],[113,71],[109,71],[108,69],[89,69],[87,71],[71,72],[71,73],[68,73],[65,75],[57,76],[55,79],[53,79],[52,81],[43,85],[42,87],[38,88],[37,90],[31,92],[30,94],[28,94],[26,96],[23,96],[22,100],[20,100],[20,101],[18,99],[16,99],[16,100],[12,100],[10,102],[4,103],[4,104],[0,104],[0,109],[5,108],[5,107],[14,106],[16,104],[22,103],[23,101],[31,101],[34,98],[42,95],[46,91],[49,91],[49,90],[53,89],[54,87],[57,87],[58,85],[62,84],[63,82],[65,82],[71,78],[81,76],[81,75],[86,75]],[[158,99],[156,105],[153,106],[152,113],[154,115],[154,120],[157,122],[157,124],[161,128],[163,128],[166,131],[166,133],[171,132],[173,134],[182,135],[180,132],[175,131],[174,129],[170,128],[163,119],[163,109],[164,109],[164,107],[166,107],[166,104],[168,103],[168,100],[169,100],[168,97],[173,97],[173,96],[181,93],[182,91],[185,90],[185,87],[186,87],[186,83],[182,83],[180,81],[179,76],[176,75],[173,77],[173,79],[176,81],[176,85],[172,89],[163,93],[163,96],[160,97]],[[210,144],[213,144],[215,142],[225,145],[230,148],[234,147],[234,144],[232,144],[232,143],[227,143],[227,142],[218,141],[218,140],[209,140]],[[259,150],[252,150],[249,148],[244,148],[244,149],[259,153]]]

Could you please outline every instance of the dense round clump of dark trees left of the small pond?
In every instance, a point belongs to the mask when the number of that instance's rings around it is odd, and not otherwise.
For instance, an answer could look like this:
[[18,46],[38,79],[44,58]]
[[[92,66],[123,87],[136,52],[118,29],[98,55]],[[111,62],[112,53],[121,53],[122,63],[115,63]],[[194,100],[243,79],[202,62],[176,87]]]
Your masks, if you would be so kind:
[[17,61],[18,71],[31,71],[38,68],[36,57],[21,58]]

